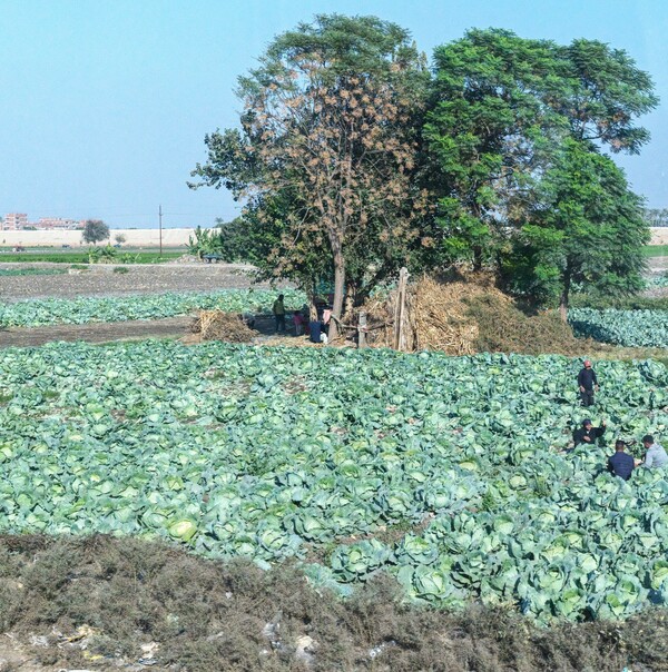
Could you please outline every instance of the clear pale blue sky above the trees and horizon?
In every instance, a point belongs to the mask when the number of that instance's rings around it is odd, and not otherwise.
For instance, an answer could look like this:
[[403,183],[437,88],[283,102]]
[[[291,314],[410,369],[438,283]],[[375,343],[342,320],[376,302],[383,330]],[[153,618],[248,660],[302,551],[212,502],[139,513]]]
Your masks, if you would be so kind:
[[238,206],[186,186],[204,136],[234,126],[236,78],[272,38],[315,13],[375,14],[431,57],[468,28],[568,43],[600,39],[648,70],[662,102],[652,140],[617,159],[668,207],[668,3],[660,0],[0,0],[0,215],[114,227],[210,226]]

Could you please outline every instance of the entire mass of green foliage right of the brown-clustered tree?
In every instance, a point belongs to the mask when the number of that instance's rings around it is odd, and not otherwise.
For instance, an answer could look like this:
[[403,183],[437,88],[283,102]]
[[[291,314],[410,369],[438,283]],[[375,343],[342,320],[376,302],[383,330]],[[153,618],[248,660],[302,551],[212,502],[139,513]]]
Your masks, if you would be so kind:
[[638,154],[648,141],[635,120],[658,102],[649,76],[596,40],[559,46],[499,29],[439,47],[435,63],[424,137],[438,209],[424,259],[492,266],[548,304],[568,298],[574,276],[637,289],[640,199],[599,152]]

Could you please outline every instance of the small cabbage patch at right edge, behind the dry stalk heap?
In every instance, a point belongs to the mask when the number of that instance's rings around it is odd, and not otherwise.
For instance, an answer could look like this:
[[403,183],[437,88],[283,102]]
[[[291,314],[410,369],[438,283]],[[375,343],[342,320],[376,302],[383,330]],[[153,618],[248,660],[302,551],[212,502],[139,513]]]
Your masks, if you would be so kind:
[[576,336],[627,347],[668,347],[668,310],[574,308],[568,316]]

